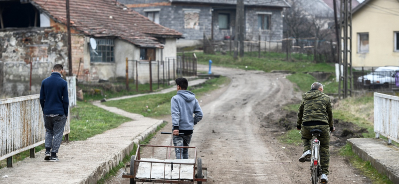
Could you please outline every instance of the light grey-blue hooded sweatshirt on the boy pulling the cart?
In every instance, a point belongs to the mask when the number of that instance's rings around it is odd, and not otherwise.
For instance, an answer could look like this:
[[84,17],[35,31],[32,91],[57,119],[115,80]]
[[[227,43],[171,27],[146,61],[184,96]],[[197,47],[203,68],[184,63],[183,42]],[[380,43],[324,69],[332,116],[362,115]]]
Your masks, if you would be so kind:
[[[171,99],[172,130],[179,130],[185,135],[192,134],[194,125],[202,119],[202,109],[196,94],[179,90]],[[193,117],[194,114],[194,117]]]

